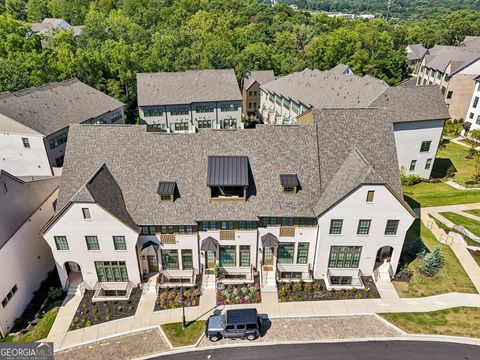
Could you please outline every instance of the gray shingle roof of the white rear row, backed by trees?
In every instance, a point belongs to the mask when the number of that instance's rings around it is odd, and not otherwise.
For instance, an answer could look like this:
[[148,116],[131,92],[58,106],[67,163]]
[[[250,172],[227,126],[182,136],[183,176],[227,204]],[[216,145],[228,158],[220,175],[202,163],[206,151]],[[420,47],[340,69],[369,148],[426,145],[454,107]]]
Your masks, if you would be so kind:
[[242,100],[231,69],[138,73],[137,97],[139,106]]

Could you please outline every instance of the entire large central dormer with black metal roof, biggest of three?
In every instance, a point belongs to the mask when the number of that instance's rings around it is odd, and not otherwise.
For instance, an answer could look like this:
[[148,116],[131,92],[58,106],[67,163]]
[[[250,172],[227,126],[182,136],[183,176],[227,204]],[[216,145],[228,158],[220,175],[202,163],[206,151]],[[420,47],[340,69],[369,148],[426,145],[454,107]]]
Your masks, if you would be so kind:
[[248,157],[209,156],[207,185],[210,200],[247,199]]

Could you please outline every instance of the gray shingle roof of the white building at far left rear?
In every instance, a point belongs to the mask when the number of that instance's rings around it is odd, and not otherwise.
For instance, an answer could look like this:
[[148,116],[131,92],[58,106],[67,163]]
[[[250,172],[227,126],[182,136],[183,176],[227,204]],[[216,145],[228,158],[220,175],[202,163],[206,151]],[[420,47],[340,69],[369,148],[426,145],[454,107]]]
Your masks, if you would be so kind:
[[65,80],[0,93],[0,113],[44,135],[116,110],[123,103],[82,83]]

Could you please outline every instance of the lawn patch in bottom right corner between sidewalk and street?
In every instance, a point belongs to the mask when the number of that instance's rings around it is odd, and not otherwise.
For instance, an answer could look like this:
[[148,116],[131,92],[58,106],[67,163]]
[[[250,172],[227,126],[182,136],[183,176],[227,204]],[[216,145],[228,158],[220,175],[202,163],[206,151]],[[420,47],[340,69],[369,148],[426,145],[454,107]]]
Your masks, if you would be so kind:
[[458,307],[424,313],[379,315],[407,333],[480,338],[480,308]]

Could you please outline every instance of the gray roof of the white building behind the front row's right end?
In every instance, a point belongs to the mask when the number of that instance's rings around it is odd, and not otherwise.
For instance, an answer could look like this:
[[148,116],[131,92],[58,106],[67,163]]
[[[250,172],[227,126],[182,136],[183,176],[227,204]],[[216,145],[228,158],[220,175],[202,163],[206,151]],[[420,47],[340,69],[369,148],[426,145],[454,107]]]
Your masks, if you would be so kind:
[[386,109],[394,122],[449,119],[450,114],[438,86],[394,86],[371,105]]

